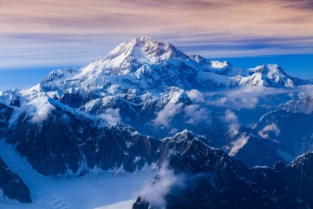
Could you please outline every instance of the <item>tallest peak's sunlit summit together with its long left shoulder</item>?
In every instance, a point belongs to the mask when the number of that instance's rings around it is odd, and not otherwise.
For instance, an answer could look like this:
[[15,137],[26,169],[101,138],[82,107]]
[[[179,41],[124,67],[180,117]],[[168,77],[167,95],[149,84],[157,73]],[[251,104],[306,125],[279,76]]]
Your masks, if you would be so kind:
[[137,71],[144,64],[156,65],[178,57],[189,58],[168,42],[139,37],[117,45],[105,57],[81,68],[52,71],[41,83],[61,81],[70,77],[84,82],[102,76],[128,74]]

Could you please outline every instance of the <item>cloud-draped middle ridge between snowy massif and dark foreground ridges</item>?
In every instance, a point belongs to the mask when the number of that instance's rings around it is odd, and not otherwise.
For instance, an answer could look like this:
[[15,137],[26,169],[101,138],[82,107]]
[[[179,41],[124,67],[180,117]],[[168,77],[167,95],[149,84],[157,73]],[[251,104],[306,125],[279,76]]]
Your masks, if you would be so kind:
[[[228,154],[236,156],[249,167],[256,165],[273,166],[280,157],[269,139],[260,138],[253,129],[237,124],[238,130],[230,129],[232,123],[225,121],[225,114],[211,114],[208,109],[194,105],[186,93],[174,92],[156,99],[129,97],[126,95],[110,96],[87,103],[80,110],[89,114],[99,115],[109,108],[119,109],[121,122],[136,128],[141,134],[164,138],[173,135],[172,130],[181,132],[184,129],[205,135],[216,147]],[[142,102],[148,100],[147,102]],[[172,105],[171,105],[172,104]],[[195,110],[194,110],[195,109]],[[168,114],[164,110],[176,111],[168,117],[168,123],[158,124],[158,114]],[[198,119],[188,111],[201,115]],[[164,113],[163,113],[164,112]],[[156,118],[153,120],[153,118]],[[287,163],[287,161],[285,161]]]

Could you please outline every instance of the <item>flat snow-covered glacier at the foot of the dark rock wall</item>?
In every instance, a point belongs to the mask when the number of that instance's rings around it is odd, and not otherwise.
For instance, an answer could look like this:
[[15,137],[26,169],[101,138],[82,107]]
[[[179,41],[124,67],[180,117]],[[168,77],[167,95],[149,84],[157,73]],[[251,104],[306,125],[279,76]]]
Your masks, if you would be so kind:
[[83,178],[50,178],[37,173],[10,145],[0,141],[0,153],[8,167],[28,185],[32,203],[0,197],[1,208],[131,208],[138,193],[156,172]]

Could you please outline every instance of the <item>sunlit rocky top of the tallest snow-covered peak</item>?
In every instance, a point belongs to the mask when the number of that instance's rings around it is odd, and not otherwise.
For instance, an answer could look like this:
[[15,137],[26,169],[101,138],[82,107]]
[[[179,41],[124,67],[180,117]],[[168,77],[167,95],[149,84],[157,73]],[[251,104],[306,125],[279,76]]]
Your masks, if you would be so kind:
[[[104,58],[99,58],[85,66],[99,69],[104,75],[128,74],[142,65],[156,65],[171,58],[188,59],[168,42],[158,42],[150,37],[139,37],[119,44]],[[94,72],[92,72],[94,73]]]

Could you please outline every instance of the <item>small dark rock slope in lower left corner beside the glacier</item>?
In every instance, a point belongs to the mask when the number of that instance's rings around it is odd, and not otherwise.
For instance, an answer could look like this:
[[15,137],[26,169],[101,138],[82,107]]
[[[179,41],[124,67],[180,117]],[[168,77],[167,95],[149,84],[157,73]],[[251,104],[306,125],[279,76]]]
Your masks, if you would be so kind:
[[3,195],[22,203],[30,203],[30,191],[22,179],[11,171],[0,157],[0,189]]

